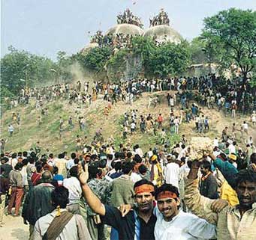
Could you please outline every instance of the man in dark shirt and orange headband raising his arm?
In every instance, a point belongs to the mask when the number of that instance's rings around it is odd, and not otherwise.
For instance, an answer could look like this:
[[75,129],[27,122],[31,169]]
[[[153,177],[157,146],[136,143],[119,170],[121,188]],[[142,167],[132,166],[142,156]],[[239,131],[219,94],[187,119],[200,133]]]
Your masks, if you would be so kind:
[[152,182],[145,179],[134,184],[134,200],[137,203],[137,210],[131,210],[124,217],[119,209],[104,205],[93,194],[87,185],[88,169],[85,171],[80,167],[80,184],[84,197],[91,209],[101,215],[104,224],[114,227],[119,233],[119,240],[155,240],[154,229],[156,218],[153,215],[153,199],[155,187]]

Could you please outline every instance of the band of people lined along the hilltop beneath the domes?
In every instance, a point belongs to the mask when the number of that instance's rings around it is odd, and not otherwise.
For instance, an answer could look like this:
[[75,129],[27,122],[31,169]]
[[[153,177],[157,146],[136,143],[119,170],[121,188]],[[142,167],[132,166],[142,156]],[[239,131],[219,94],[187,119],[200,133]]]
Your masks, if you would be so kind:
[[[17,99],[11,99],[10,106],[14,108],[18,104],[23,104],[23,99],[26,99],[27,104],[32,97],[37,99],[38,108],[43,99],[51,101],[63,98],[69,99],[70,102],[85,103],[97,98],[98,93],[104,94],[104,98],[114,95],[114,99],[131,98],[134,101],[143,92],[176,90],[178,96],[181,98],[183,96],[182,102],[191,99],[208,108],[216,106],[219,111],[222,109],[225,114],[232,113],[232,117],[235,118],[237,111],[242,114],[255,114],[253,111],[256,109],[256,96],[249,81],[250,79],[243,81],[239,76],[232,80],[223,79],[214,74],[200,77],[131,79],[131,81],[119,83],[94,81],[91,86],[88,81],[84,81],[83,84],[82,81],[77,81],[76,84],[63,83],[49,87],[23,89]],[[89,92],[89,87],[91,92]],[[255,115],[252,118],[254,120]]]

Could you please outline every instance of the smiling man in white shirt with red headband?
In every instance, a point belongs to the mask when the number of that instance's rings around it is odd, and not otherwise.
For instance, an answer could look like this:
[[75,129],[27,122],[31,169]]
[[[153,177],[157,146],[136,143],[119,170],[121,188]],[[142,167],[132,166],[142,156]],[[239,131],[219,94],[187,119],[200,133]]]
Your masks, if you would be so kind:
[[155,240],[215,239],[215,226],[180,209],[179,191],[173,185],[161,185],[155,191]]

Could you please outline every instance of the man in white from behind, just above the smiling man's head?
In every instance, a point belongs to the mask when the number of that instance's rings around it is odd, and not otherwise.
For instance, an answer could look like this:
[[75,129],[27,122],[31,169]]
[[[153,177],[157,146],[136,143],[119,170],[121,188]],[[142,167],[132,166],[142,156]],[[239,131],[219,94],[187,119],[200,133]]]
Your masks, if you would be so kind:
[[164,180],[179,188],[179,164],[176,164],[174,156],[167,156],[167,165],[164,167]]

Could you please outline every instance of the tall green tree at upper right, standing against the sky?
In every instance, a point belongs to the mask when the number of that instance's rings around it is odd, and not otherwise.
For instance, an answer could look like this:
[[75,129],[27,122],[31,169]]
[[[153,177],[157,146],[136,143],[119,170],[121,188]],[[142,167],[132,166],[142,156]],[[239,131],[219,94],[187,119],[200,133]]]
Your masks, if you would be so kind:
[[230,8],[204,19],[202,37],[221,52],[221,64],[237,64],[246,81],[256,66],[256,12]]

